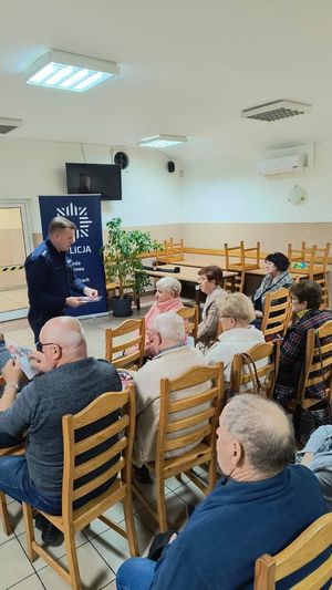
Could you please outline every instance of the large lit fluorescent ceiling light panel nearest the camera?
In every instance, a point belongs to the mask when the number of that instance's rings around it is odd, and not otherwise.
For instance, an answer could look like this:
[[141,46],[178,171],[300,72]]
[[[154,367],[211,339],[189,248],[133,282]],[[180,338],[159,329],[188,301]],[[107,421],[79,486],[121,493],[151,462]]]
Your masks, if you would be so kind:
[[52,50],[41,55],[25,75],[28,84],[85,92],[118,73],[115,62]]

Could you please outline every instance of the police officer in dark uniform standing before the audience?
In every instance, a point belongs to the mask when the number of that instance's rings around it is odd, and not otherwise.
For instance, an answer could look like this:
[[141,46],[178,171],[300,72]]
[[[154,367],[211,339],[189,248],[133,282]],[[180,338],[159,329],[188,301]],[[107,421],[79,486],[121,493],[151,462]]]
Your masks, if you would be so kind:
[[83,304],[80,297],[71,296],[72,291],[87,297],[98,294],[96,289],[85,287],[74,275],[68,250],[74,242],[75,229],[70,219],[54,217],[49,237],[25,260],[30,304],[28,320],[34,342],[39,341],[40,330],[48,320],[63,315],[66,306],[79,308]]

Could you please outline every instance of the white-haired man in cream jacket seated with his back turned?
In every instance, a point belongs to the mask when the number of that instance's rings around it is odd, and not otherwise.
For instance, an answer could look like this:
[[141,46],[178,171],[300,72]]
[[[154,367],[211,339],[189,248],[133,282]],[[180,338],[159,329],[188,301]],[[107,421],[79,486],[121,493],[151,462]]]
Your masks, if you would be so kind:
[[[151,340],[155,356],[137,373],[133,373],[136,387],[136,435],[134,443],[135,477],[141,483],[149,483],[149,475],[144,463],[155,459],[156,435],[160,410],[160,379],[176,379],[196,365],[207,362],[196,349],[185,344],[184,320],[174,312],[158,314],[153,324]],[[206,390],[205,384],[177,392],[185,397]],[[190,412],[190,411],[187,411]],[[186,413],[186,415],[189,415]],[[185,414],[184,414],[185,417]],[[176,455],[184,449],[173,452]]]

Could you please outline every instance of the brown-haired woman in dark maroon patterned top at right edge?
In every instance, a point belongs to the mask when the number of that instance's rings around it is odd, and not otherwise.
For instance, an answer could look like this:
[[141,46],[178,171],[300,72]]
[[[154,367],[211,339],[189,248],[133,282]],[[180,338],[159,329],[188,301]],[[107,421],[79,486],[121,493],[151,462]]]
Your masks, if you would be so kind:
[[[292,311],[297,321],[287,331],[280,350],[280,364],[274,389],[276,400],[287,407],[288,400],[297,394],[297,387],[305,359],[307,332],[332,320],[332,312],[320,311],[322,289],[314,281],[300,281],[290,288]],[[322,383],[305,390],[305,397],[322,400]]]

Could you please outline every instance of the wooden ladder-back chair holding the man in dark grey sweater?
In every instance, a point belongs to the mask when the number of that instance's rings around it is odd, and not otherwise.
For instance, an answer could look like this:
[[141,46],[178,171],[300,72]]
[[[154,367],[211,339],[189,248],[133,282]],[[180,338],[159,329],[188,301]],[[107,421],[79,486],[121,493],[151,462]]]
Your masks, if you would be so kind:
[[[79,428],[108,416],[112,412],[121,412],[121,418],[103,427],[103,429],[95,434],[75,442]],[[52,516],[42,511],[40,514],[63,532],[68,553],[68,569],[63,568],[44,547],[35,541],[32,509],[29,504],[23,504],[29,559],[34,561],[38,556],[42,557],[74,590],[82,589],[75,547],[75,532],[86,527],[92,520],[100,518],[108,527],[112,527],[128,540],[131,555],[138,555],[131,489],[134,428],[135,391],[133,385],[123,392],[104,393],[77,414],[66,415],[62,418],[64,449],[62,516]],[[93,452],[95,447],[102,443],[106,443],[113,436],[118,438],[117,443],[112,445],[107,451],[93,456],[93,458],[82,460],[83,453],[86,451]],[[80,455],[81,460],[77,462]],[[81,485],[80,487],[75,485],[76,480],[82,476],[91,475],[97,467],[101,467],[111,459],[114,459],[115,463],[111,467],[107,467],[104,473],[94,476],[87,484]],[[116,479],[106,491],[91,499],[81,508],[74,509],[73,504],[75,500],[93,491],[110,478],[116,476]],[[124,505],[126,530],[103,514],[121,500]]]

